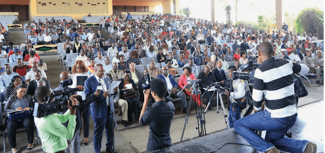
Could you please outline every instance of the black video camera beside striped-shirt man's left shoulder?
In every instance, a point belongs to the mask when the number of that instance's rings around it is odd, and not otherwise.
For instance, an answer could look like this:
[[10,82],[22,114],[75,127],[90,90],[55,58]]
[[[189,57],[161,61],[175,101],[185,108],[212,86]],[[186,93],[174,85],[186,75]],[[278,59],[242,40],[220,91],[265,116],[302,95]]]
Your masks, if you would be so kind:
[[254,74],[255,74],[255,70],[260,65],[261,64],[256,63],[255,60],[249,60],[249,62],[247,64],[244,64],[244,65],[242,65],[240,67],[240,69],[242,71],[248,70],[249,73],[234,72],[233,73],[233,80],[235,80],[235,79],[248,80],[249,85],[253,86],[254,85]]

